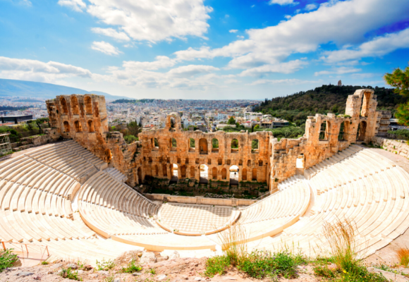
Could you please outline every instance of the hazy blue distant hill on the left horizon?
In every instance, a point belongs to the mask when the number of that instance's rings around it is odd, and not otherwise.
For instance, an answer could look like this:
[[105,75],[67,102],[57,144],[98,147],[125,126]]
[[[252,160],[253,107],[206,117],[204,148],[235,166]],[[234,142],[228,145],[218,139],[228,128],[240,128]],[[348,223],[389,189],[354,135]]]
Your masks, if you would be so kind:
[[0,78],[0,96],[32,97],[51,99],[57,95],[69,94],[98,94],[104,95],[106,99],[121,99],[128,97],[111,95],[99,91],[87,91],[74,87],[55,85],[51,83],[33,82],[25,80],[8,80]]

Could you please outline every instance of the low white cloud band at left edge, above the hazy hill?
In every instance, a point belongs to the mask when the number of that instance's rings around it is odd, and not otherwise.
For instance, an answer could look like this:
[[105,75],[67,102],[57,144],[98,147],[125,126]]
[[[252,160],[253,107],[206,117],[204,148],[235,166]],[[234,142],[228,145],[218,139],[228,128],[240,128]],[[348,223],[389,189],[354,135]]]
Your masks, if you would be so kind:
[[70,77],[92,78],[92,73],[85,68],[54,61],[44,63],[37,60],[0,57],[0,77],[55,82]]

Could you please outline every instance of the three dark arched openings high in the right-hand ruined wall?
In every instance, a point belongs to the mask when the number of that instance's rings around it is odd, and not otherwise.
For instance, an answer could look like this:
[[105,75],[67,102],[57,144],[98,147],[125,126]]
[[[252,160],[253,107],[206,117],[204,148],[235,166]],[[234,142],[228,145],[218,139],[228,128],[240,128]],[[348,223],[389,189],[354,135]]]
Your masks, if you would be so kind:
[[[343,121],[340,125],[338,131],[338,140],[346,141],[348,140],[348,135],[351,135],[350,121]],[[358,130],[356,133],[356,140],[363,141],[365,140],[365,132],[367,128],[367,122],[361,121],[358,123]],[[331,122],[324,121],[321,123],[321,128],[319,129],[319,140],[326,141],[329,140],[331,136]]]

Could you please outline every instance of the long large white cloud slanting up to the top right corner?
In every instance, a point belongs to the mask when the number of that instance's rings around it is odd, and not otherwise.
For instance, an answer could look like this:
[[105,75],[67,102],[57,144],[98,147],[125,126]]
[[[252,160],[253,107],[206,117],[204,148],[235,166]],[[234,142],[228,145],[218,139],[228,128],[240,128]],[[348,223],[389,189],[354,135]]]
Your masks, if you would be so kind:
[[[285,61],[291,54],[317,51],[320,44],[357,44],[371,30],[407,18],[407,0],[330,1],[316,11],[263,29],[248,30],[248,39],[218,48],[176,51],[178,60],[232,57],[228,68],[256,68]],[[365,20],[363,20],[365,18]],[[269,67],[266,67],[269,68]]]

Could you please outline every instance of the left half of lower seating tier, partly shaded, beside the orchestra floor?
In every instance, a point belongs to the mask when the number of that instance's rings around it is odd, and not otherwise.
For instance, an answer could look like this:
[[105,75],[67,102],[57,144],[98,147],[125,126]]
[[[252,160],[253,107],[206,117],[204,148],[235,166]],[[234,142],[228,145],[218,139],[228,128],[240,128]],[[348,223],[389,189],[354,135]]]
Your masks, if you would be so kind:
[[159,207],[103,171],[83,185],[78,208],[87,226],[105,238],[149,250],[215,248],[206,238],[180,237],[160,228],[154,221]]

